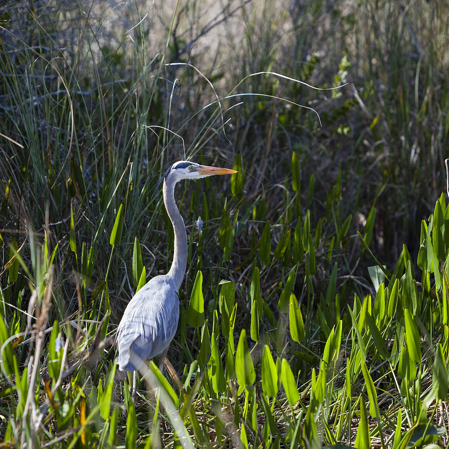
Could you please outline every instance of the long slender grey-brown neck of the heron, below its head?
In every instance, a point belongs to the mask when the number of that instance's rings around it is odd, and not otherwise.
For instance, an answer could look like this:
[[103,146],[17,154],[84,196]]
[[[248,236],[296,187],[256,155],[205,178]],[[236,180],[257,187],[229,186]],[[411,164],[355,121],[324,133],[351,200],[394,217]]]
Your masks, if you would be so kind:
[[172,278],[176,289],[179,290],[183,282],[184,274],[187,266],[187,233],[184,220],[179,213],[178,206],[175,203],[175,183],[167,183],[164,180],[163,186],[164,204],[167,214],[173,224],[175,231],[175,252],[173,254],[173,262],[167,276]]

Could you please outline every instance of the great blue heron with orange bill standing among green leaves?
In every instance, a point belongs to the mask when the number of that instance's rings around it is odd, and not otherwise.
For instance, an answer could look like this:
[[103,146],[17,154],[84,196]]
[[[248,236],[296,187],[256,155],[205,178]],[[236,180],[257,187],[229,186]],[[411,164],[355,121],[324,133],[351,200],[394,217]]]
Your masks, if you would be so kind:
[[178,327],[178,290],[186,272],[187,234],[175,203],[176,183],[183,179],[231,173],[236,171],[181,161],[173,164],[162,177],[160,183],[164,183],[164,204],[175,231],[173,263],[167,274],[150,279],[132,297],[123,313],[117,330],[117,363],[120,370],[138,370],[146,360],[156,356],[161,356],[162,367]]

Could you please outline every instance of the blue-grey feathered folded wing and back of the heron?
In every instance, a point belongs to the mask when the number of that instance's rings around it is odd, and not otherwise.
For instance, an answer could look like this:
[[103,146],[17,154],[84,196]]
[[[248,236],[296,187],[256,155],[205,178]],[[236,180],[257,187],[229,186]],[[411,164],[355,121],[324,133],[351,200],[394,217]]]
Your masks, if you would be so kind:
[[131,299],[117,331],[118,364],[124,371],[138,369],[160,355],[172,341],[179,319],[175,288],[156,276]]

